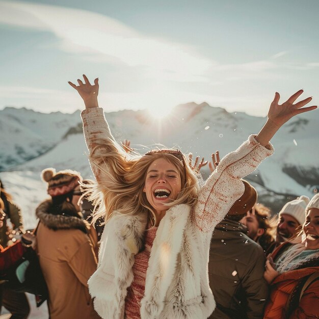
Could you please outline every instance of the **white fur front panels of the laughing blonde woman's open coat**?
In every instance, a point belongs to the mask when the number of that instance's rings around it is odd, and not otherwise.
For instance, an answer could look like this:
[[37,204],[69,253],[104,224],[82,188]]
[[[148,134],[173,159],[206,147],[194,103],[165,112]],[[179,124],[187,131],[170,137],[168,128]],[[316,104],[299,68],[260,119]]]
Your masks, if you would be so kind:
[[[159,223],[146,273],[145,294],[141,302],[142,318],[158,317],[163,310],[190,213],[190,206],[176,205],[166,212]],[[95,310],[102,318],[124,316],[127,288],[134,279],[134,256],[143,245],[146,225],[146,216],[142,215],[114,215],[105,225],[98,268],[88,281],[90,294],[95,297]]]

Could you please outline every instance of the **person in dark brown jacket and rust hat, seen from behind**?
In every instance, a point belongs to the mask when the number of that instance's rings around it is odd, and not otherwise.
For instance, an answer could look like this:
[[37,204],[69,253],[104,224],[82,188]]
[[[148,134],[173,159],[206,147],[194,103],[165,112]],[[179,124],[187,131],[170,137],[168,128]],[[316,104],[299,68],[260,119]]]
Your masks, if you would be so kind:
[[243,182],[245,193],[216,226],[210,243],[208,274],[216,309],[209,319],[261,318],[268,296],[262,248],[238,222],[257,200],[256,190]]

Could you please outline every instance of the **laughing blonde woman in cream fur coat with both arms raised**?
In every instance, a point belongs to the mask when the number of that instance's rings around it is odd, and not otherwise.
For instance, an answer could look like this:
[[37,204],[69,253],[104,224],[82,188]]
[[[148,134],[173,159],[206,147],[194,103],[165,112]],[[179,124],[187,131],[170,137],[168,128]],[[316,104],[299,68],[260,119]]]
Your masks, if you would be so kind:
[[[208,285],[210,237],[216,224],[244,193],[241,177],[273,153],[278,128],[311,98],[296,104],[302,90],[279,105],[268,121],[226,155],[200,189],[194,171],[178,150],[153,150],[129,158],[113,138],[98,108],[98,79],[84,75],[84,134],[96,178],[92,198],[103,217],[98,267],[89,279],[94,306],[102,318],[207,318],[215,309]],[[173,141],[172,141],[173,142]]]

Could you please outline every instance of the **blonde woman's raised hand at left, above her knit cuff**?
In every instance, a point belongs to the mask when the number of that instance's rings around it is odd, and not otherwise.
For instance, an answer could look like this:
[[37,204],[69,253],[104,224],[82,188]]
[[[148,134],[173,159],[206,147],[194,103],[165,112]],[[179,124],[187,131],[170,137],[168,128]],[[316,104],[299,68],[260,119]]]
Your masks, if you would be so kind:
[[86,109],[98,108],[97,95],[98,95],[98,78],[94,80],[94,85],[91,85],[89,79],[83,74],[84,83],[81,79],[77,79],[78,86],[72,82],[69,85],[74,88],[78,94],[83,98]]

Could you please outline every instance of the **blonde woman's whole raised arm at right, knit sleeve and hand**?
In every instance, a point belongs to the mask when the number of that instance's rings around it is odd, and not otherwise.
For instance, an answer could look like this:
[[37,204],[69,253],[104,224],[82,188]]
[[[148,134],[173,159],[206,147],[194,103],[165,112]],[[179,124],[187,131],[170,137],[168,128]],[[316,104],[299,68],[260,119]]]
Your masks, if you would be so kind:
[[268,120],[259,134],[250,136],[237,150],[222,159],[199,192],[193,211],[193,222],[198,229],[212,231],[233,203],[243,195],[241,178],[253,172],[265,157],[272,154],[273,147],[269,141],[276,131],[295,115],[317,108],[315,105],[302,108],[311,101],[311,97],[295,103],[302,93],[303,90],[299,90],[286,102],[278,104],[280,96],[276,92],[270,105]]

